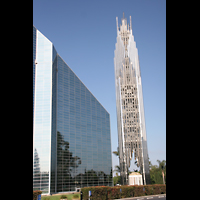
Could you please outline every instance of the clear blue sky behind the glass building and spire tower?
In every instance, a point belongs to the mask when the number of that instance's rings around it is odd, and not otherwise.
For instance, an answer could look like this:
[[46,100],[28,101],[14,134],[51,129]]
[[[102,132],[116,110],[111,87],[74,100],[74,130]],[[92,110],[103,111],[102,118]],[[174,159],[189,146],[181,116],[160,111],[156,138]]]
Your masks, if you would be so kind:
[[[33,0],[33,24],[110,113],[118,147],[114,50],[116,16],[132,17],[143,86],[148,153],[166,160],[166,0]],[[113,169],[118,158],[113,158]],[[136,169],[132,165],[130,170]]]

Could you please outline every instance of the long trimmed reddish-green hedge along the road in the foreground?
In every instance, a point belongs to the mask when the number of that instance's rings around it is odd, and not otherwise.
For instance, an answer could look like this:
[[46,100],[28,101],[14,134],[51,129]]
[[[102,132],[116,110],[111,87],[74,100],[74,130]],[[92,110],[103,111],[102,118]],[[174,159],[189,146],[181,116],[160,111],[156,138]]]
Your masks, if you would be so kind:
[[138,197],[153,194],[165,194],[166,185],[134,185],[134,186],[96,186],[81,188],[83,200],[88,200],[88,193],[91,191],[90,200],[112,200],[126,197]]

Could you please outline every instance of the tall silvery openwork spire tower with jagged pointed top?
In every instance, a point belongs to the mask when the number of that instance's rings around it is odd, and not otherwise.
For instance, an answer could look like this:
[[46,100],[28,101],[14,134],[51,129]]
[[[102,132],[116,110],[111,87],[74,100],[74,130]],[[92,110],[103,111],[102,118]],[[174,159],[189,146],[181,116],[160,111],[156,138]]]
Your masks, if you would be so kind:
[[122,184],[128,184],[128,169],[134,152],[146,185],[150,184],[150,174],[138,50],[132,34],[131,16],[130,25],[124,13],[120,27],[118,17],[116,23],[114,67],[120,174]]

